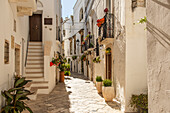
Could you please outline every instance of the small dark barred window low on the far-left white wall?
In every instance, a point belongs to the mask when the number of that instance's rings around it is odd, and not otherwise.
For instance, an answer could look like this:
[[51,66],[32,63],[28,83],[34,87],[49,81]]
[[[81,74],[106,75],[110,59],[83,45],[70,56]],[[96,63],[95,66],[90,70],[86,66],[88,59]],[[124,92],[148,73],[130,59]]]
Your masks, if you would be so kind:
[[5,40],[4,63],[9,64],[9,41]]

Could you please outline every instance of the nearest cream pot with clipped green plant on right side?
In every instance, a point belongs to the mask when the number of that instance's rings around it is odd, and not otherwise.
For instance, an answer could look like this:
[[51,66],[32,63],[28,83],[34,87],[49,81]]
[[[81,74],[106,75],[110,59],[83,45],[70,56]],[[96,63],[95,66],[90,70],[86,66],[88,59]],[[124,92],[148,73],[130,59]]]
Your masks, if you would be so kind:
[[114,87],[112,87],[112,81],[109,79],[103,80],[102,94],[105,101],[113,101],[115,96]]

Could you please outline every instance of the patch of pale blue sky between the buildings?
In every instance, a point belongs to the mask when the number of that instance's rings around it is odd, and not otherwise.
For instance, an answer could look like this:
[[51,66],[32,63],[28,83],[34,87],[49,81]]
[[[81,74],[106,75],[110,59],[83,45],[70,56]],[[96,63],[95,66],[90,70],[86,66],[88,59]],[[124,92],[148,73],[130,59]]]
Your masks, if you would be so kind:
[[63,19],[65,17],[70,17],[73,14],[73,7],[77,0],[61,0],[62,1],[62,15]]

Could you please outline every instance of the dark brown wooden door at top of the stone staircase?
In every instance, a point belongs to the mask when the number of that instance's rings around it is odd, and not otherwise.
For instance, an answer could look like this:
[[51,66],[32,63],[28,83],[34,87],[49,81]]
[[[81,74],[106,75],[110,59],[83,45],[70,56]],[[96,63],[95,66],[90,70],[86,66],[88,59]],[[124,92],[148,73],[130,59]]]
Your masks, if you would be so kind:
[[34,14],[29,18],[30,22],[30,41],[42,42],[42,15]]

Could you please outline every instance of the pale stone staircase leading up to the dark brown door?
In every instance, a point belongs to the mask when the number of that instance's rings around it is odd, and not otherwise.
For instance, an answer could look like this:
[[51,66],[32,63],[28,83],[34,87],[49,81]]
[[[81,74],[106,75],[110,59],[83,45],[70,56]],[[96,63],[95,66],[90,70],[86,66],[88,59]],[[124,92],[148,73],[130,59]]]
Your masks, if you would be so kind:
[[25,77],[27,80],[32,80],[25,86],[26,89],[34,92],[29,96],[30,99],[35,100],[38,94],[49,94],[48,81],[44,80],[42,42],[29,42]]

